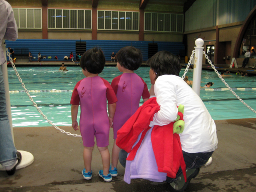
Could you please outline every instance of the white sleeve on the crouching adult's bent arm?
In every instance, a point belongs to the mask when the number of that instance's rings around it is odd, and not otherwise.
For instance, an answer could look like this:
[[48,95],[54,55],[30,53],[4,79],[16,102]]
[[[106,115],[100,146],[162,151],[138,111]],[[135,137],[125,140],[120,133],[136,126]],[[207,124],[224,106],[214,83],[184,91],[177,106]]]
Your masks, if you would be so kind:
[[154,115],[153,121],[150,122],[150,127],[167,125],[177,118],[177,85],[172,84],[170,80],[168,81],[167,76],[169,75],[160,76],[155,82],[154,92],[160,110]]

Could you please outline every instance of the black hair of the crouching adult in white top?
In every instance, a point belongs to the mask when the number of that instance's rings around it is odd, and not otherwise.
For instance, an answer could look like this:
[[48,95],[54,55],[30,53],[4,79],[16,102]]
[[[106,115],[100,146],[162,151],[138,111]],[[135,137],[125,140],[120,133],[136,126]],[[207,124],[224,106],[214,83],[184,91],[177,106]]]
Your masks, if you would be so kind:
[[179,58],[168,51],[157,52],[148,59],[146,64],[156,73],[156,79],[161,75],[179,76],[180,74]]

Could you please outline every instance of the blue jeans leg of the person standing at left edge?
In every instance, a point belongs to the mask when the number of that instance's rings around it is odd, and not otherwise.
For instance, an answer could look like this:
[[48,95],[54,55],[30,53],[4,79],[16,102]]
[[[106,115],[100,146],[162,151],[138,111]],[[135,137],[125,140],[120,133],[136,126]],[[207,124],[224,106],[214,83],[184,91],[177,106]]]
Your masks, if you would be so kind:
[[0,164],[3,167],[15,164],[17,160],[16,152],[6,111],[4,78],[0,66]]

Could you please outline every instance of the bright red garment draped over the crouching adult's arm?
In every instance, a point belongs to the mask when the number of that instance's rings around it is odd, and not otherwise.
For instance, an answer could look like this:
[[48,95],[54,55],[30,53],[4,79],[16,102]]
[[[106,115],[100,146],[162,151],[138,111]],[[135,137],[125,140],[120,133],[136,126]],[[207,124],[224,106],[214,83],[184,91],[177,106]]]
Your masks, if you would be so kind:
[[[156,98],[151,98],[144,102],[118,130],[116,145],[130,153],[126,160],[134,160],[146,132],[150,129],[149,124],[159,110],[160,106],[158,106]],[[179,113],[182,116],[180,120],[183,120],[183,114]],[[186,164],[182,155],[180,136],[173,134],[173,124],[174,122],[165,126],[154,126],[151,133],[152,147],[158,171],[166,172],[168,177],[175,178],[181,166],[186,181]],[[141,132],[143,133],[139,142],[132,148]]]

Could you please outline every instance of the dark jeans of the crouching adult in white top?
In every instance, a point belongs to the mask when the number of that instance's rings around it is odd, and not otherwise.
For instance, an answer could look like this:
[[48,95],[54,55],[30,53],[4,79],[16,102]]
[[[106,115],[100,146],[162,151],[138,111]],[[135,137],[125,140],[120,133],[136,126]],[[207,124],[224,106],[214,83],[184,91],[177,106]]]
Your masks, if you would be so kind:
[[[212,156],[212,152],[207,153],[187,153],[182,151],[183,158],[186,164],[186,169],[193,169],[193,168],[200,168],[204,164],[207,163],[209,158]],[[125,150],[121,150],[119,152],[119,161],[120,164],[125,167],[126,166],[126,158],[127,158],[127,152]],[[182,174],[181,168],[178,170],[176,174],[176,178],[178,178]],[[171,183],[174,181],[174,178],[167,177],[166,182]]]

